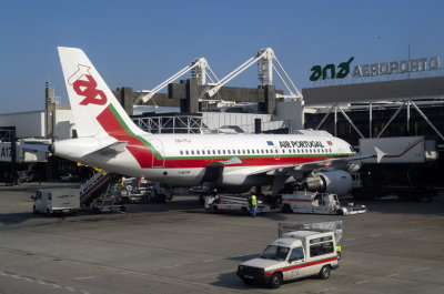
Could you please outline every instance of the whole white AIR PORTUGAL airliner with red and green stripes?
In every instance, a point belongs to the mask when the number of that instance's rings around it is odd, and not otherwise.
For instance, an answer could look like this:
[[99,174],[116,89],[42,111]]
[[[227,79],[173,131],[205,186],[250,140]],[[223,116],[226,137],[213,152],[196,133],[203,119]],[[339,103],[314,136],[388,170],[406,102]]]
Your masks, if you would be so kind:
[[58,49],[78,134],[54,142],[53,152],[61,158],[175,186],[271,185],[278,193],[309,176],[320,190],[343,194],[351,189],[350,169],[356,166],[350,163],[373,156],[356,155],[332,135],[147,133],[81,49]]

